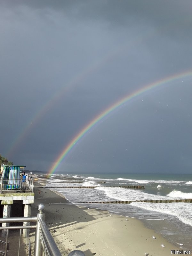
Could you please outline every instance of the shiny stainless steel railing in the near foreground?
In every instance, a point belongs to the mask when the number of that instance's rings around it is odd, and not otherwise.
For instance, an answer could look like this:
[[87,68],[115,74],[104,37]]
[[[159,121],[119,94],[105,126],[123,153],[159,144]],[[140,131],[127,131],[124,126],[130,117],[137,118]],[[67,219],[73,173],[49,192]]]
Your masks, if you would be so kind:
[[[10,229],[20,229],[20,239],[19,239],[19,250],[18,250],[18,256],[20,255],[20,242],[21,242],[21,230],[26,228],[35,228],[35,247],[34,247],[34,256],[42,256],[43,253],[45,256],[62,256],[60,253],[59,248],[57,247],[52,235],[50,234],[49,229],[47,228],[44,219],[45,214],[43,213],[45,206],[44,204],[39,204],[37,209],[39,210],[39,213],[37,214],[37,217],[14,217],[14,218],[0,218],[0,223],[10,223],[10,222],[36,222],[36,225],[30,225],[28,223],[28,226],[6,226],[6,227],[0,227],[0,230],[7,230],[6,234],[6,244],[5,246],[5,253],[2,255],[7,256],[8,252],[8,234]],[[30,242],[29,242],[30,244]],[[14,246],[14,245],[13,245]],[[11,244],[10,244],[11,247]],[[31,250],[29,246],[29,255],[31,255]],[[16,255],[16,254],[15,254]],[[70,252],[68,256],[85,256],[84,252],[75,250],[73,252]]]

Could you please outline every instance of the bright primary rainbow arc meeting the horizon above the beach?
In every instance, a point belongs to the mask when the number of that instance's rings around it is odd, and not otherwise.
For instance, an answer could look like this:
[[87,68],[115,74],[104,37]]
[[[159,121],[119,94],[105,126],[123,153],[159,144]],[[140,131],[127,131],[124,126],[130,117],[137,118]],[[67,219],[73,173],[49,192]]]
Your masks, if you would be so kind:
[[151,89],[154,89],[160,85],[167,84],[169,82],[172,82],[177,79],[184,78],[186,76],[192,76],[192,70],[180,73],[180,74],[175,74],[173,76],[166,77],[162,80],[158,80],[155,83],[148,84],[141,89],[123,97],[121,100],[118,100],[115,104],[111,105],[109,108],[107,108],[104,112],[96,116],[89,124],[87,124],[83,130],[81,130],[73,140],[69,142],[69,144],[62,150],[60,155],[57,157],[56,161],[52,165],[52,167],[49,170],[50,174],[53,174],[55,170],[57,169],[58,165],[61,163],[63,158],[69,153],[69,151],[76,145],[76,143],[88,132],[96,123],[98,123],[103,117],[107,116],[110,112],[112,112],[114,109],[120,107],[123,105],[125,102],[128,100],[131,100],[132,98],[139,96],[140,94],[147,92]]

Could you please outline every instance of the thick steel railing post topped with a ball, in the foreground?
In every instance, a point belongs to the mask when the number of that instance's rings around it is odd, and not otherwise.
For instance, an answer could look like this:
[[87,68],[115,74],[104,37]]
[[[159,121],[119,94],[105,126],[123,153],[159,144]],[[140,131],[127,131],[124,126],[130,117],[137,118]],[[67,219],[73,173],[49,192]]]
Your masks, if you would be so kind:
[[37,225],[36,225],[36,233],[35,233],[35,248],[34,248],[34,256],[42,256],[43,255],[43,247],[41,244],[41,233],[40,233],[40,223],[39,219],[45,219],[45,214],[43,213],[45,206],[44,204],[39,204],[37,209],[39,213],[37,213]]

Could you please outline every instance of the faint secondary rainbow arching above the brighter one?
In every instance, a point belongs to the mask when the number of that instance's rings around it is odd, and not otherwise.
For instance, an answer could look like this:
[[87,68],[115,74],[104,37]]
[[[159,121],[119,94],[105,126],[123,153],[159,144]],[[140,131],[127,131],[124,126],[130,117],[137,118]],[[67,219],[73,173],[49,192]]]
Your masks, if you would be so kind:
[[[163,28],[163,27],[162,27]],[[167,28],[167,24],[166,24]],[[107,52],[102,58],[96,60],[91,65],[89,64],[84,70],[82,70],[79,74],[76,74],[67,84],[63,85],[63,87],[55,92],[50,100],[48,100],[45,104],[43,104],[37,112],[34,113],[33,116],[30,116],[28,123],[26,125],[22,125],[20,129],[20,133],[17,134],[15,139],[12,143],[7,144],[7,149],[5,149],[4,155],[8,158],[12,158],[12,155],[15,152],[18,152],[18,148],[25,142],[25,139],[30,132],[33,131],[34,126],[41,121],[42,116],[44,116],[50,108],[54,106],[63,96],[67,93],[71,88],[74,88],[79,84],[80,81],[83,81],[86,77],[88,77],[91,73],[95,72],[98,69],[101,69],[102,66],[108,63],[111,59],[113,59],[118,53],[123,52],[124,49],[131,47],[132,45],[142,43],[144,38],[148,38],[149,36],[153,36],[153,29],[149,29],[145,36],[140,34],[134,40],[131,39],[129,42],[125,42],[122,45],[119,45],[115,50],[113,49],[112,52]]]

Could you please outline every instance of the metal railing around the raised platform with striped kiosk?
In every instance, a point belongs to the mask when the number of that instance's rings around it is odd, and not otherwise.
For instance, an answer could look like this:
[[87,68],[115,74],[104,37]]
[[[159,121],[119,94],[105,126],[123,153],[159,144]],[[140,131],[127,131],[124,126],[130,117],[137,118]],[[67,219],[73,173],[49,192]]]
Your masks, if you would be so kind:
[[3,179],[1,177],[1,190],[0,194],[2,194],[4,191],[30,191],[33,193],[33,183],[34,179]]

